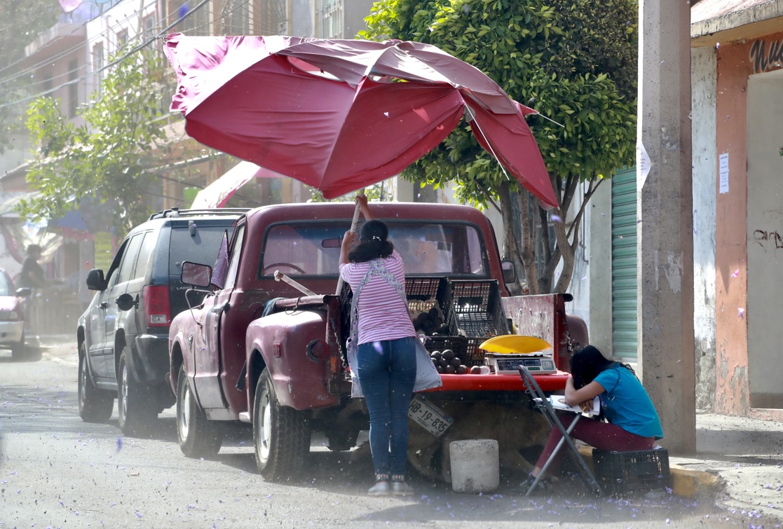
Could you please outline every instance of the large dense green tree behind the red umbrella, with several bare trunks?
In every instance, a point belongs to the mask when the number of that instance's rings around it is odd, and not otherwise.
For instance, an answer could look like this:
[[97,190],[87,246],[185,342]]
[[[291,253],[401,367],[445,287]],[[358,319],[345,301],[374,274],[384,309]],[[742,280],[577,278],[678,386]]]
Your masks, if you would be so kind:
[[[549,213],[505,175],[467,124],[403,175],[435,186],[453,181],[465,203],[499,204],[505,257],[525,271],[529,292],[565,292],[590,196],[634,163],[637,3],[381,0],[366,21],[360,38],[436,45],[541,114],[528,121],[559,200]],[[511,289],[521,293],[521,282]]]

